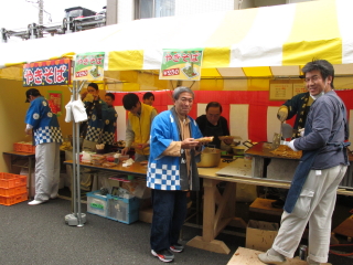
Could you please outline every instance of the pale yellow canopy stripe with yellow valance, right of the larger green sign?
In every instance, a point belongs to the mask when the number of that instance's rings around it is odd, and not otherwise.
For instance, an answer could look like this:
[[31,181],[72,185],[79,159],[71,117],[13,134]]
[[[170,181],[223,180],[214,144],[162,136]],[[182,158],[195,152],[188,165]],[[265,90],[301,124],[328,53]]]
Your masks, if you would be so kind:
[[217,30],[205,42],[202,67],[228,67],[231,46],[246,36],[257,12],[257,9],[227,12]]

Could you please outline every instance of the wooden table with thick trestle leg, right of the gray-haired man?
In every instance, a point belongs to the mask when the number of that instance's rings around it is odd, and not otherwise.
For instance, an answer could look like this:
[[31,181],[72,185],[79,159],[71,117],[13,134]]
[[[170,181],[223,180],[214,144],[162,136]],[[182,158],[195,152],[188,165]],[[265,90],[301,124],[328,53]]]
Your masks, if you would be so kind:
[[[233,165],[236,165],[238,168],[238,174],[235,177],[216,174],[222,168],[229,166],[225,162],[221,162],[217,168],[199,168],[199,174],[203,178],[204,187],[202,236],[195,236],[188,242],[188,245],[222,254],[228,254],[231,252],[223,241],[215,240],[215,237],[232,221],[240,222],[242,224],[242,220],[235,216],[236,183],[284,189],[289,189],[290,187],[290,181],[286,180],[253,178],[250,160],[237,159]],[[226,181],[223,194],[218,192],[216,187],[217,183],[222,181]],[[353,191],[338,189],[338,194],[353,195]],[[244,221],[243,225],[246,225]]]

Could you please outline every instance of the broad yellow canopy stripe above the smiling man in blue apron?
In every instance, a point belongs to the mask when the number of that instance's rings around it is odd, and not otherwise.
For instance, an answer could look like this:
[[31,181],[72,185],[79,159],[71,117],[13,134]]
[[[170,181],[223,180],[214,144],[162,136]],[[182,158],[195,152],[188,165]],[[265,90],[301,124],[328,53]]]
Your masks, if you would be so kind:
[[293,26],[284,44],[282,65],[306,64],[313,57],[342,63],[335,1],[296,4]]

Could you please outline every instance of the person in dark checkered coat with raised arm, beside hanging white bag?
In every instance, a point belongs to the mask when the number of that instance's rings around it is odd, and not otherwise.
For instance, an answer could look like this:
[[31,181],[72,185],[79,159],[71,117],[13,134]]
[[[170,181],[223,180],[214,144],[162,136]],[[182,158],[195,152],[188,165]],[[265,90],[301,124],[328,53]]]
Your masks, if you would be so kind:
[[104,120],[108,117],[108,106],[99,97],[99,88],[96,83],[87,86],[87,92],[83,94],[88,116],[87,127],[82,131],[84,136],[83,150],[95,151],[96,145],[101,144]]

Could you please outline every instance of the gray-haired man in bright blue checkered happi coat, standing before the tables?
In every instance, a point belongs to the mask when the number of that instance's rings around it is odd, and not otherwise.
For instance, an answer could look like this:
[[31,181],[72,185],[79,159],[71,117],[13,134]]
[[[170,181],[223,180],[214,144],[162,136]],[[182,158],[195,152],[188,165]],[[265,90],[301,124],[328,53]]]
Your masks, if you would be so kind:
[[194,93],[189,87],[173,92],[174,107],[156,116],[150,134],[147,186],[152,189],[151,253],[172,262],[170,252],[182,252],[178,243],[186,215],[186,193],[200,189],[196,162],[203,142],[196,121],[188,116]]

